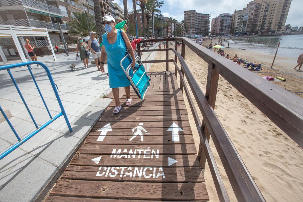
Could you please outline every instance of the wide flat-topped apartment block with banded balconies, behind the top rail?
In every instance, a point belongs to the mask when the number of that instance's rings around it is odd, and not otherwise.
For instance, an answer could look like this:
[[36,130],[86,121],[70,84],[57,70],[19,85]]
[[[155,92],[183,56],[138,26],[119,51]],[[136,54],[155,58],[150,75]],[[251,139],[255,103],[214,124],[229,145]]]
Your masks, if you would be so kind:
[[184,11],[188,35],[208,35],[210,14],[197,13],[196,10]]

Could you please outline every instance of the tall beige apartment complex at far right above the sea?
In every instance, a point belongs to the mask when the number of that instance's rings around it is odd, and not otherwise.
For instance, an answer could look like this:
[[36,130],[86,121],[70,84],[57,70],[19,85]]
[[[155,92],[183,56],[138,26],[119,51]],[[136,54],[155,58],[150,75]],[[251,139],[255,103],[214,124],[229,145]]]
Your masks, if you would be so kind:
[[233,14],[235,34],[242,33],[281,33],[285,31],[285,22],[291,0],[255,0],[241,11]]

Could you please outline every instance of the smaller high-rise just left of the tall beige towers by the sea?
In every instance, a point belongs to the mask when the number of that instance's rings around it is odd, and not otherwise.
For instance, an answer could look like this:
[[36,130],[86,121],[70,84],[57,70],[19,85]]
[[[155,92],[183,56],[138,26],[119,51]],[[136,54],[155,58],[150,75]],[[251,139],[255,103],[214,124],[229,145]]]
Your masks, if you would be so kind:
[[211,20],[211,34],[216,36],[228,35],[232,27],[232,15],[229,13],[222,13]]

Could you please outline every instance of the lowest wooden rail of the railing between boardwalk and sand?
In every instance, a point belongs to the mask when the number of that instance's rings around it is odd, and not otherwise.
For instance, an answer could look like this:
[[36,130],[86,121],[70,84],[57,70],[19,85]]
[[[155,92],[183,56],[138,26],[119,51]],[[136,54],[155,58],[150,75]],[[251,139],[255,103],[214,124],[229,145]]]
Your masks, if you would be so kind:
[[181,82],[183,83],[183,86],[184,86],[185,94],[186,94],[186,97],[188,99],[188,103],[189,103],[189,106],[191,108],[191,113],[194,117],[196,127],[197,127],[197,131],[198,131],[198,134],[199,134],[199,137],[200,137],[200,143],[203,145],[203,149],[204,149],[204,153],[206,155],[208,166],[209,166],[209,169],[211,171],[211,175],[212,175],[213,180],[214,180],[214,184],[215,184],[215,187],[216,187],[216,190],[217,190],[218,198],[219,198],[220,201],[228,202],[230,200],[228,198],[227,191],[225,189],[225,186],[224,186],[223,180],[221,178],[218,166],[216,164],[215,157],[214,157],[214,155],[211,151],[208,140],[207,140],[206,135],[204,133],[204,128],[201,124],[201,121],[200,121],[199,115],[196,111],[194,102],[192,101],[191,95],[189,94],[189,90],[188,90],[187,85],[185,83],[185,79],[184,79],[183,75],[181,74],[181,69],[179,68],[176,61],[174,61],[174,64],[175,64],[176,70],[178,71],[178,73],[180,75],[180,80],[181,80]]

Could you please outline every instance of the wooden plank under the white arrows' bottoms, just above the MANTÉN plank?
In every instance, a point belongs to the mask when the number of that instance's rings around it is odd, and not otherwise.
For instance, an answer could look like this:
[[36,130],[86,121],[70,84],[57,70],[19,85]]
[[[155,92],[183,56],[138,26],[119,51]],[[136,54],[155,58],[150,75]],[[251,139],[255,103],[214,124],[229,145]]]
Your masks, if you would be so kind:
[[[91,132],[92,133],[92,132]],[[145,136],[144,141],[142,142],[140,138],[134,138],[132,141],[129,141],[133,135],[128,136],[106,136],[103,141],[97,141],[97,135],[91,135],[91,133],[86,137],[84,144],[195,144],[194,138],[192,135],[179,135],[179,141],[172,141],[171,135],[157,135],[157,136]],[[95,132],[94,132],[95,133]],[[96,133],[95,133],[96,134]],[[97,133],[98,134],[98,133]],[[100,135],[100,132],[99,132]]]

